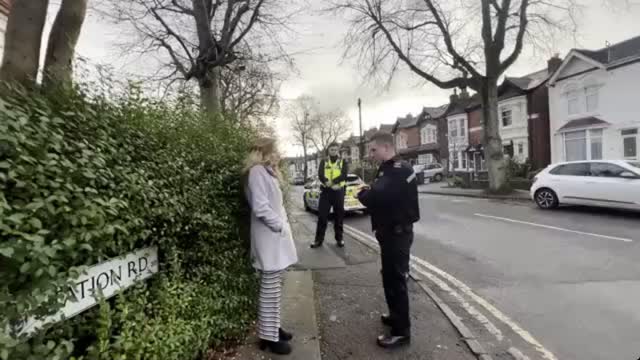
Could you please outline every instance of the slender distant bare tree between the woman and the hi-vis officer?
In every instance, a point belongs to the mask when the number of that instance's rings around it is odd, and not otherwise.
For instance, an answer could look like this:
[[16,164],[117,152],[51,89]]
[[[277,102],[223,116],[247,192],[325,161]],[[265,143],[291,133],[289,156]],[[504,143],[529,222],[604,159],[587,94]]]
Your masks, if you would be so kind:
[[315,129],[316,101],[308,95],[302,95],[295,99],[289,106],[287,117],[291,121],[291,131],[296,145],[302,146],[302,160],[304,161],[304,178],[309,176],[307,154],[312,144],[311,137]]

